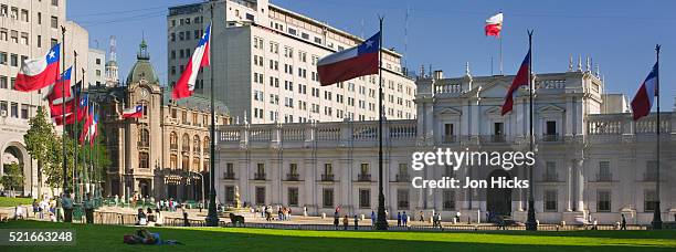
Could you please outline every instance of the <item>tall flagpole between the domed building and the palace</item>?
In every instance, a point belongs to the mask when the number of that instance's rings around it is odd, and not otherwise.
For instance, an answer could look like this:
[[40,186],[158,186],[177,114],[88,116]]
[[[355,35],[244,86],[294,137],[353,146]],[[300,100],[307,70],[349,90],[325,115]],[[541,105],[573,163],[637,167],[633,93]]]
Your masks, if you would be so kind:
[[[213,2],[210,3],[210,14],[211,14],[211,19],[210,19],[211,25],[209,27],[209,29],[211,29],[211,31],[213,31],[213,24],[214,24],[214,22],[213,22]],[[210,32],[210,34],[209,34],[209,40],[210,41],[208,42],[210,44],[209,46],[211,46],[211,38],[213,35],[211,33],[211,31],[209,31]],[[211,64],[211,71],[209,71],[209,72],[211,72],[211,92],[210,92],[211,93],[210,94],[211,95],[211,127],[209,128],[209,135],[210,135],[210,138],[209,138],[210,139],[210,143],[209,143],[209,146],[210,146],[210,157],[209,157],[209,168],[210,168],[210,170],[209,170],[209,174],[211,176],[209,176],[209,177],[210,177],[211,181],[209,182],[209,187],[210,187],[210,189],[209,189],[209,214],[207,216],[207,220],[205,221],[207,221],[207,225],[209,225],[209,227],[218,227],[219,225],[219,216],[216,214],[215,186],[214,186],[214,182],[215,182],[215,174],[214,174],[215,172],[215,158],[214,158],[215,157],[215,108],[214,108],[215,103],[213,101],[213,96],[214,96],[213,92],[215,90],[213,88],[213,72],[214,72],[214,67],[213,67],[214,66],[214,62],[213,62],[213,60],[214,59],[212,56],[213,53],[211,53],[212,51],[213,51],[213,49],[209,49],[209,61],[210,61],[209,63]]]

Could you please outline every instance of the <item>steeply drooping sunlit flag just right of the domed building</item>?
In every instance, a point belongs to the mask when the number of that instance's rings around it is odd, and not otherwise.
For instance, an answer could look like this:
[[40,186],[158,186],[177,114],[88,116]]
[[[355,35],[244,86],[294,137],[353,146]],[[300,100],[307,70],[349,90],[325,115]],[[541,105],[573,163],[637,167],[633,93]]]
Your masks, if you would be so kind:
[[200,67],[209,65],[209,44],[211,39],[211,23],[207,27],[207,31],[200,39],[200,43],[192,53],[192,57],[186,65],[181,77],[173,86],[171,97],[175,99],[190,97],[194,92],[194,81]]

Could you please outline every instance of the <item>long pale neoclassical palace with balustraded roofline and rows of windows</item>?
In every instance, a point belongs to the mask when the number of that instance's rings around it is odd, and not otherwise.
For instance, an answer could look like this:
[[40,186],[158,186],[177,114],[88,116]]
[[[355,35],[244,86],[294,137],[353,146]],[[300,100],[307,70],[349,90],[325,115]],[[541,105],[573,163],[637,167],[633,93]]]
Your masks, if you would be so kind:
[[[656,116],[632,120],[626,97],[606,94],[599,74],[579,67],[537,74],[534,104],[535,209],[540,223],[580,218],[614,223],[649,223],[657,199]],[[527,179],[525,167],[411,168],[414,151],[529,150],[528,90],[518,91],[514,111],[500,106],[514,76],[444,78],[437,71],[416,80],[416,119],[388,120],[383,128],[384,195],[390,213],[450,220],[461,212],[486,221],[486,211],[526,220],[528,189],[416,189],[414,177],[465,180]],[[663,220],[676,213],[676,116],[661,114],[659,199]],[[252,204],[307,207],[310,214],[370,214],[378,203],[378,122],[242,124],[219,127],[216,188],[231,202],[239,186]],[[591,217],[590,217],[591,214]],[[391,214],[392,216],[392,214]],[[393,214],[395,216],[395,214]]]

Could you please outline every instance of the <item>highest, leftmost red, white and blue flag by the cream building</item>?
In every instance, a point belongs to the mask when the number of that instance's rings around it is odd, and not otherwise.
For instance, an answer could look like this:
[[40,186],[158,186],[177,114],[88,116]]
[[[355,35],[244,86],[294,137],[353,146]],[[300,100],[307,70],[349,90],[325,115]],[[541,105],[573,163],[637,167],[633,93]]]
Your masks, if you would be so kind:
[[56,44],[43,57],[23,61],[23,65],[17,74],[14,88],[31,92],[56,82],[56,78],[59,78],[60,51],[61,44]]

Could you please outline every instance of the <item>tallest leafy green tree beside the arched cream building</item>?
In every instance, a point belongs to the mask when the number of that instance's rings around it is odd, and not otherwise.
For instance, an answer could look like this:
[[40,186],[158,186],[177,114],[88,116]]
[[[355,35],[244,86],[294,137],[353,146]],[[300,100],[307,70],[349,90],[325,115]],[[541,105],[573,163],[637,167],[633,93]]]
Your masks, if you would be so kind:
[[[31,158],[38,160],[38,195],[42,195],[42,171],[44,166],[51,166],[54,160],[54,153],[51,145],[54,140],[54,125],[47,119],[46,111],[43,106],[38,107],[35,116],[29,120],[31,126],[23,135],[25,148]],[[57,156],[60,154],[56,154]]]

